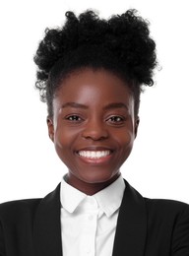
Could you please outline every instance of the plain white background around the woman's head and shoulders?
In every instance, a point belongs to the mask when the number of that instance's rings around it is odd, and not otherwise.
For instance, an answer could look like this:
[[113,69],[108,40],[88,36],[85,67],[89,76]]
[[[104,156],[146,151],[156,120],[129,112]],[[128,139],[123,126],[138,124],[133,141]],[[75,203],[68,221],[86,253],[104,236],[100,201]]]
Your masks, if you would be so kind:
[[135,8],[151,22],[162,69],[142,96],[138,138],[122,174],[144,196],[189,203],[187,0],[1,1],[0,202],[43,197],[67,170],[47,136],[32,57],[46,27],[61,26],[68,10],[88,8],[102,18]]

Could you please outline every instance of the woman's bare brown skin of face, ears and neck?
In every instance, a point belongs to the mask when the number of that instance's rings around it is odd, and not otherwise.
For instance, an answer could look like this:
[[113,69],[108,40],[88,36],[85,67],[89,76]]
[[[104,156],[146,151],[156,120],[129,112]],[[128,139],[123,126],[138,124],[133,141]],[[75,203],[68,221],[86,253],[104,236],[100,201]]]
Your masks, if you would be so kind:
[[62,81],[47,125],[57,155],[68,167],[67,182],[94,195],[120,175],[139,118],[126,82],[107,70],[86,68]]

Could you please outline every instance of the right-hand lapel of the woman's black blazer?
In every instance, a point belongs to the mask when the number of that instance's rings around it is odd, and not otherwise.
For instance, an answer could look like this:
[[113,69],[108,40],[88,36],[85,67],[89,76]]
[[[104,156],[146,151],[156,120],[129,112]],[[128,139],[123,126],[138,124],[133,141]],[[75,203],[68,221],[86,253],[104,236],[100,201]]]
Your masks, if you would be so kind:
[[126,182],[119,211],[113,256],[143,256],[147,235],[147,212],[144,198]]

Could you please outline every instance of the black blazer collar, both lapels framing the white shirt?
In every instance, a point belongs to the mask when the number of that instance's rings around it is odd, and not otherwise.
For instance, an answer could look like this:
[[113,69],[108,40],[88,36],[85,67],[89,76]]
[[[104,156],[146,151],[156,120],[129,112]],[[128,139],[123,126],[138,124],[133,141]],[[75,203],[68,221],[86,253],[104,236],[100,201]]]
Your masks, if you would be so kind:
[[[143,256],[147,235],[144,198],[127,181],[121,203],[112,256]],[[62,256],[60,184],[41,200],[34,218],[36,256]]]

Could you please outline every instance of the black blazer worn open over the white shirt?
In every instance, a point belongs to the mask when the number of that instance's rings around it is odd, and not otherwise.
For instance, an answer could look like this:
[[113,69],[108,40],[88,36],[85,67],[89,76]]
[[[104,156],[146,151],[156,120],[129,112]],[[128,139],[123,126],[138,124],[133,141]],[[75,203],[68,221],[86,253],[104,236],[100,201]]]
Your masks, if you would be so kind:
[[[0,256],[62,256],[60,184],[0,205]],[[143,198],[126,182],[113,256],[189,256],[189,205]]]

